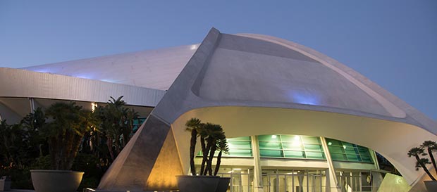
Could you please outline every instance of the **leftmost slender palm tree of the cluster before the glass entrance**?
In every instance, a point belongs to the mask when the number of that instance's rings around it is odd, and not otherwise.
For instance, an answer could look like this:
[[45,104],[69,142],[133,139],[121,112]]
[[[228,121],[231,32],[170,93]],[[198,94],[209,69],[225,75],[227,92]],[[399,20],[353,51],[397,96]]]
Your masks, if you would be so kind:
[[191,174],[196,175],[196,167],[195,167],[195,148],[197,143],[197,131],[202,127],[202,123],[199,119],[191,118],[185,123],[186,130],[191,132],[190,139],[190,169]]

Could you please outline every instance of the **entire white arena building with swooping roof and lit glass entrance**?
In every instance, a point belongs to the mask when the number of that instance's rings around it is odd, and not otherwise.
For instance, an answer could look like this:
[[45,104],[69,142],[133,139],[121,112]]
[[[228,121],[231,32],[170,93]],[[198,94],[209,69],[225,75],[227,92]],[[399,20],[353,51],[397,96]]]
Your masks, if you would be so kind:
[[423,191],[407,151],[437,141],[436,122],[333,58],[214,28],[200,44],[0,68],[0,90],[8,122],[57,101],[92,108],[124,96],[138,130],[97,191],[177,190],[175,176],[190,174],[192,117],[226,132],[219,175],[230,192]]

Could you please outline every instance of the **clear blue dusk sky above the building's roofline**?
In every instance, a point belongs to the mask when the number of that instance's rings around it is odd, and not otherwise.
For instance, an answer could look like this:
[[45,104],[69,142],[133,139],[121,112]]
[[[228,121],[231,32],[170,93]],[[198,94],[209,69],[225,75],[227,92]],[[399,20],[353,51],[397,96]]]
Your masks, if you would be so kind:
[[0,1],[0,67],[269,34],[339,60],[437,120],[437,1]]

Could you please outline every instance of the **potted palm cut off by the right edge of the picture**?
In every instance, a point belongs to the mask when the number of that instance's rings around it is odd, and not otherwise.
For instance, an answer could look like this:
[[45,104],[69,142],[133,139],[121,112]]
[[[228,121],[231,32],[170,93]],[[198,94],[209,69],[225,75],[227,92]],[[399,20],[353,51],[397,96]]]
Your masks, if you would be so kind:
[[[426,153],[425,152],[426,149]],[[431,172],[429,172],[429,169],[426,167],[426,164],[431,164],[434,167],[434,171],[437,174],[437,166],[436,166],[436,160],[434,159],[433,151],[437,150],[437,143],[435,141],[424,141],[424,143],[421,144],[419,147],[414,147],[408,151],[407,155],[408,157],[414,157],[416,162],[416,170],[419,170],[419,168],[423,169],[424,172],[431,178],[431,181],[424,181],[426,189],[428,191],[437,191],[437,181],[436,178],[433,177]],[[429,155],[429,158],[431,159],[431,162],[429,162],[428,158],[423,158],[421,156]]]

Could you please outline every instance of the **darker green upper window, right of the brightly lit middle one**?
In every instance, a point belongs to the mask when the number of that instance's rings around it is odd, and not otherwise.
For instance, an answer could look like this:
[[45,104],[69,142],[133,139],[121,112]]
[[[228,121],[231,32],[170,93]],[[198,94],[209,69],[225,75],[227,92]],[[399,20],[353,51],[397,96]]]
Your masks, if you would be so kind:
[[326,144],[328,145],[332,160],[373,162],[369,148],[328,138],[326,138]]

